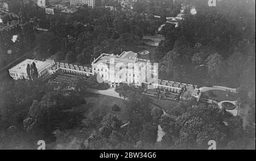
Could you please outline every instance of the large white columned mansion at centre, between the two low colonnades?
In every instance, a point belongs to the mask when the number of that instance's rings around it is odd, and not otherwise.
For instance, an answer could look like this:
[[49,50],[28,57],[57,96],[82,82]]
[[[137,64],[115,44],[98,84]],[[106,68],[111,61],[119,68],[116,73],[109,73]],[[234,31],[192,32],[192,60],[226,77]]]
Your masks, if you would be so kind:
[[138,58],[134,52],[122,52],[120,55],[101,54],[92,62],[92,72],[117,87],[120,83],[142,86],[142,83],[152,83],[158,79],[158,65],[150,60]]

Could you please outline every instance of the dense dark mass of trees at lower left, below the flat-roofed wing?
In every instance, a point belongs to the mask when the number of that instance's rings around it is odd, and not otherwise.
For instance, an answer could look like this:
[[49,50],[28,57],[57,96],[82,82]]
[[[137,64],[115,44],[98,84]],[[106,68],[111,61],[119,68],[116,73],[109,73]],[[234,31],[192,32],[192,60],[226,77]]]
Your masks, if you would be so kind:
[[0,149],[32,148],[39,139],[52,141],[56,129],[79,126],[82,113],[68,109],[86,101],[81,93],[64,87],[38,79],[2,82]]

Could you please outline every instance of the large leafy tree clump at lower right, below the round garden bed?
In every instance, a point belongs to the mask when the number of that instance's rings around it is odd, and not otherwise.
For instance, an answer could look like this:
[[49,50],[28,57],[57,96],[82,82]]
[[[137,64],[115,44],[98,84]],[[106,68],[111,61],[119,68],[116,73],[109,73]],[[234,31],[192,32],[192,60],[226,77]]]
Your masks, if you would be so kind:
[[207,149],[209,140],[217,142],[217,149],[228,149],[231,142],[234,142],[232,145],[240,145],[240,137],[244,133],[239,117],[230,116],[214,105],[188,108],[177,118],[175,131],[179,136],[175,145],[182,149]]

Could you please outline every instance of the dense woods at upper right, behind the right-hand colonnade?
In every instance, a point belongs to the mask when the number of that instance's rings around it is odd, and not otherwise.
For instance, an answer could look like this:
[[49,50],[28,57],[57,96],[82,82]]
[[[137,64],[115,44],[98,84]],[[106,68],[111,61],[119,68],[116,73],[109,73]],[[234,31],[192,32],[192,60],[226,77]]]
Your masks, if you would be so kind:
[[255,2],[220,1],[217,7],[207,1],[183,3],[195,6],[197,14],[185,16],[177,28],[163,27],[166,40],[154,58],[161,62],[161,78],[245,87],[255,96]]

